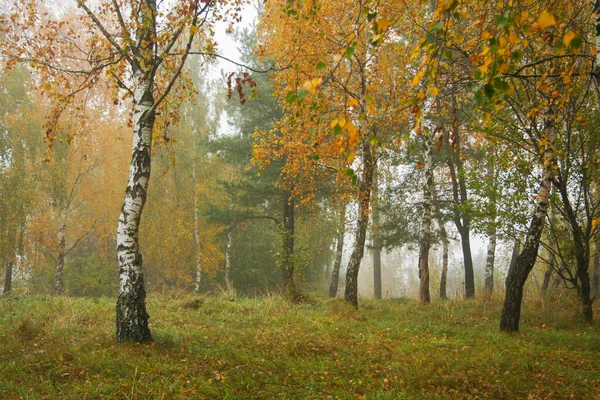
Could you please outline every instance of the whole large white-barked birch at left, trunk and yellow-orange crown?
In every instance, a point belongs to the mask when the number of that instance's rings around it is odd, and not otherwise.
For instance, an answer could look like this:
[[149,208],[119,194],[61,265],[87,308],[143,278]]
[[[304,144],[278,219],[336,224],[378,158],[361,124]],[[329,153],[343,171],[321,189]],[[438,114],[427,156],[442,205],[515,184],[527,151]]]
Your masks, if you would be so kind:
[[[71,108],[85,121],[87,94],[100,87],[131,112],[133,143],[129,180],[117,224],[119,341],[152,340],[139,226],[150,178],[154,128],[177,119],[177,106],[190,93],[184,65],[190,53],[210,56],[218,20],[237,21],[240,1],[112,0],[95,5],[77,0],[68,18],[48,18],[43,5],[14,3],[4,49],[10,62],[27,62],[40,74],[41,89],[54,103],[47,140],[56,139],[61,114]],[[32,35],[36,35],[32,40]],[[198,43],[195,43],[195,40]],[[173,96],[173,92],[178,92]],[[171,94],[171,96],[169,96]],[[168,100],[168,101],[167,101]]]

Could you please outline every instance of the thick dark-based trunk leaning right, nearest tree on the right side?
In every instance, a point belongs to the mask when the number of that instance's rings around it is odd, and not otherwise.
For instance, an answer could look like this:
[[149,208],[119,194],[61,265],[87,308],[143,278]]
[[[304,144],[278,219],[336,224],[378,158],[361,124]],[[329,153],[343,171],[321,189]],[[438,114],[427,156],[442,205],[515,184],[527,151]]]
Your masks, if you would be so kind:
[[523,286],[535,265],[540,238],[544,229],[544,221],[548,215],[550,190],[552,188],[554,167],[556,165],[554,149],[551,147],[554,144],[556,135],[553,118],[553,112],[550,110],[542,135],[548,145],[543,146],[543,155],[540,160],[542,177],[535,213],[529,224],[523,251],[516,257],[515,263],[510,266],[506,276],[506,293],[500,319],[500,330],[504,332],[517,332],[519,330]]

